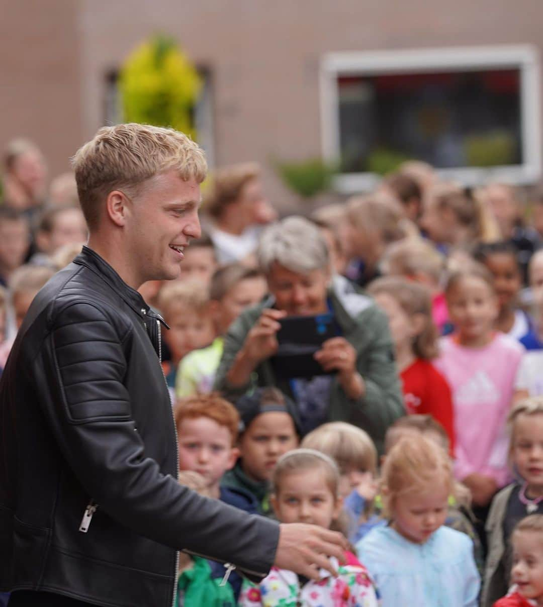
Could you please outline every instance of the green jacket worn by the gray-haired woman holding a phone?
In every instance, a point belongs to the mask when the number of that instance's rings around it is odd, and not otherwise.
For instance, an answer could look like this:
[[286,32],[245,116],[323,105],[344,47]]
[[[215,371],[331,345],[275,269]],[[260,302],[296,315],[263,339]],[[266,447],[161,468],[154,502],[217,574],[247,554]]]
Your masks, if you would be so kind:
[[[337,379],[333,379],[329,421],[347,421],[363,428],[381,454],[386,429],[405,415],[388,320],[370,297],[357,291],[349,280],[341,276],[334,277],[328,295],[343,336],[357,351],[357,370],[366,384],[364,396],[353,400],[346,395]],[[273,298],[268,298],[245,310],[228,330],[215,379],[215,388],[224,392],[227,398],[236,399],[256,386],[273,385],[295,399],[289,382],[276,380],[269,361],[256,368],[247,385],[233,388],[226,379],[251,327],[262,310],[273,307],[273,303]]]

